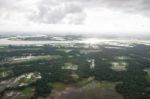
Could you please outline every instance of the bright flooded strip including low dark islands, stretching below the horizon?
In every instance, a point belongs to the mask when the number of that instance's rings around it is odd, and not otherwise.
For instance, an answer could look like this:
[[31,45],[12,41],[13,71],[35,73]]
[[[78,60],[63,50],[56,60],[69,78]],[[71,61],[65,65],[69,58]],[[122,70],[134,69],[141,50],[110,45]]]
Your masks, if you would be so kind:
[[[39,37],[41,39],[39,39]],[[149,40],[137,40],[137,39],[103,39],[103,38],[85,38],[85,37],[50,37],[45,40],[45,36],[21,36],[12,38],[0,38],[0,45],[44,45],[44,44],[88,44],[91,46],[97,45],[112,45],[118,47],[132,47],[134,44],[146,44],[150,45]],[[18,39],[17,39],[18,38]],[[26,38],[26,39],[25,39]],[[30,38],[30,39],[28,39]],[[48,37],[47,37],[48,38]],[[54,39],[52,39],[54,38]]]

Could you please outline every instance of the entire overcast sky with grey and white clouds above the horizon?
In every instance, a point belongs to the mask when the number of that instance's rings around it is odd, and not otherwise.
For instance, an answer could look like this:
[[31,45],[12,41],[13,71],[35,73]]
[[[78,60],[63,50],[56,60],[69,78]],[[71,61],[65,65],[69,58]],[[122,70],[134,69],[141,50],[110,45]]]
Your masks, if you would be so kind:
[[0,0],[0,31],[150,32],[150,0]]

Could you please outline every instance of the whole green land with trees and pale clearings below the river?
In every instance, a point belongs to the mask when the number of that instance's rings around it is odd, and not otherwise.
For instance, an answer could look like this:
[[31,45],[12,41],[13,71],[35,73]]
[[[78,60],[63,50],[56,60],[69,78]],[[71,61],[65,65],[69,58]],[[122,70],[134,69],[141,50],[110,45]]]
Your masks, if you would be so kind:
[[0,48],[0,98],[150,99],[150,46],[84,46]]

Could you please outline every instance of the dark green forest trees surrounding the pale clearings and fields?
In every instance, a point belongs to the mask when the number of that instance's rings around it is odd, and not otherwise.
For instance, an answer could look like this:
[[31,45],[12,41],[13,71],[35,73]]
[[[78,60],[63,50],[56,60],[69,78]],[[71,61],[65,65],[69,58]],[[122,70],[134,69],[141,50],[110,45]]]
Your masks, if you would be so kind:
[[[32,50],[38,48],[38,50]],[[62,47],[63,48],[63,47]],[[25,55],[60,55],[62,58],[55,60],[40,60],[29,61],[16,64],[1,64],[1,67],[10,68],[13,75],[1,78],[0,80],[10,79],[29,72],[40,72],[42,78],[32,83],[31,86],[35,87],[33,99],[39,96],[46,97],[50,94],[53,87],[49,83],[62,82],[62,83],[75,83],[77,80],[70,77],[71,70],[63,70],[62,66],[66,62],[71,62],[78,65],[78,70],[75,71],[79,75],[78,80],[83,78],[95,77],[98,81],[120,82],[116,86],[116,91],[124,96],[125,99],[150,99],[150,83],[147,81],[144,69],[150,68],[149,46],[136,45],[133,48],[124,49],[107,49],[101,47],[101,52],[93,52],[88,54],[81,54],[79,51],[82,48],[69,48],[73,51],[65,53],[58,51],[57,47],[45,45],[43,47],[37,46],[9,46],[7,49],[10,51],[0,51],[0,60],[9,57],[21,57]],[[24,50],[22,50],[24,49]],[[69,55],[73,57],[68,57]],[[80,56],[77,56],[80,55]],[[114,71],[110,67],[112,61],[116,61],[114,57],[125,56],[130,57],[124,59],[128,64],[126,71]],[[105,60],[104,60],[105,58]],[[95,59],[95,68],[90,68],[90,63],[87,59]],[[28,87],[28,86],[26,86]],[[9,89],[18,90],[18,88]],[[19,89],[20,90],[20,89]],[[7,90],[5,91],[7,92]],[[1,92],[1,96],[5,93]]]

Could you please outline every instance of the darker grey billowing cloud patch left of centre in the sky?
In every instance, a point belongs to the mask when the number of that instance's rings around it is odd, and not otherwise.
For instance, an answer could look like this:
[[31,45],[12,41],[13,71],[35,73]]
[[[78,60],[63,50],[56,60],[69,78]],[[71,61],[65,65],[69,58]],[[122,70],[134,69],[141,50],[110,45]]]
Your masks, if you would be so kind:
[[78,2],[45,0],[38,5],[38,11],[38,15],[33,15],[31,19],[41,23],[81,24],[85,18],[83,8]]

